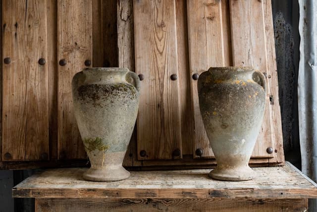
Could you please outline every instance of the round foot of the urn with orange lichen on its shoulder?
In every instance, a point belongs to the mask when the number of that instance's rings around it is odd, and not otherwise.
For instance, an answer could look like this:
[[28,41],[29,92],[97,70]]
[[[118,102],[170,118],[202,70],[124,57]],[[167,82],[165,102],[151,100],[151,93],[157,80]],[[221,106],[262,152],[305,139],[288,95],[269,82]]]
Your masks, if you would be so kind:
[[244,181],[252,180],[256,177],[255,171],[249,166],[241,167],[215,167],[209,176],[213,179],[224,181]]

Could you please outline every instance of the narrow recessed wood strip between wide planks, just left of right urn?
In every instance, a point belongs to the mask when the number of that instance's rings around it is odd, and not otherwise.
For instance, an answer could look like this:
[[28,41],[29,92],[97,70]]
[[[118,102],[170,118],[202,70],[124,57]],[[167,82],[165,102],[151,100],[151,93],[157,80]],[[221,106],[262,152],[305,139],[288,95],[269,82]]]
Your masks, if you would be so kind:
[[182,151],[183,154],[192,154],[194,121],[190,95],[192,76],[189,73],[186,1],[175,0],[175,4]]

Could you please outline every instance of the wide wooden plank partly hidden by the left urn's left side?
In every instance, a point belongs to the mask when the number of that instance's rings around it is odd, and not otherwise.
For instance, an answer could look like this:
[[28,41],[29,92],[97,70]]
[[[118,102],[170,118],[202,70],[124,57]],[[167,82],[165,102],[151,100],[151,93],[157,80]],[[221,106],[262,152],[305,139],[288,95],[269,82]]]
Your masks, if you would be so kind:
[[58,158],[86,158],[73,113],[71,80],[92,60],[92,1],[57,1]]

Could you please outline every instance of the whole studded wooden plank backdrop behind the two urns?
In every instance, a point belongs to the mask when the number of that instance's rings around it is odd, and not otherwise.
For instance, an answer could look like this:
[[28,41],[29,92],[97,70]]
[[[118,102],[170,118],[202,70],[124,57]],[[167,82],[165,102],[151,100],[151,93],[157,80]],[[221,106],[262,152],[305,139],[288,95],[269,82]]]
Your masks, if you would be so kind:
[[2,0],[1,6],[1,168],[85,164],[70,93],[73,74],[85,67],[142,74],[124,165],[175,168],[215,164],[193,74],[254,66],[266,73],[268,89],[250,162],[283,164],[270,0]]

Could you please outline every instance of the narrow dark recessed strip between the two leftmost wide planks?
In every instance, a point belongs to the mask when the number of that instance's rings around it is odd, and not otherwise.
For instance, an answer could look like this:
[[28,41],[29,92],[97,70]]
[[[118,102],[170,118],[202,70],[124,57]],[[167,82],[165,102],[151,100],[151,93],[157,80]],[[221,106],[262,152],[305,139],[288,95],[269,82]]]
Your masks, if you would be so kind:
[[50,156],[57,159],[57,0],[47,1]]

